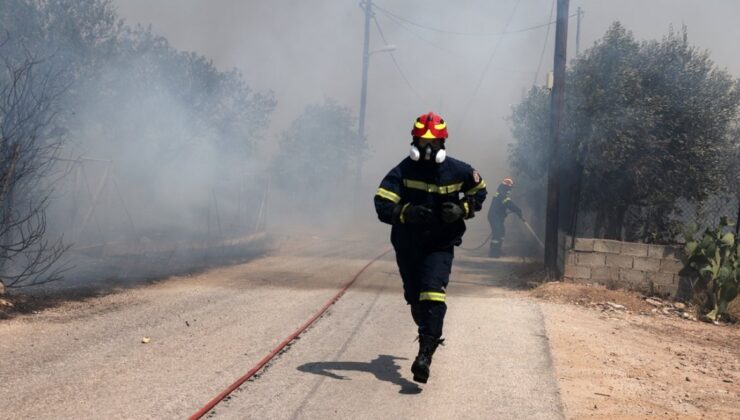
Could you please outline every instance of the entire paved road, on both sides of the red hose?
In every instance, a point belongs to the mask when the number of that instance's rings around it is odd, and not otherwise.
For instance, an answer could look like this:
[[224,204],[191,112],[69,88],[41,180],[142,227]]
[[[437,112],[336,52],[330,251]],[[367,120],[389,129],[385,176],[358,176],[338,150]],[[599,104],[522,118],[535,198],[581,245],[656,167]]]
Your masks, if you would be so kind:
[[[385,247],[302,248],[0,323],[0,418],[183,418],[243,375]],[[459,255],[447,345],[410,381],[414,326],[392,257],[212,413],[216,418],[562,418],[516,264]],[[143,336],[151,342],[142,344]]]

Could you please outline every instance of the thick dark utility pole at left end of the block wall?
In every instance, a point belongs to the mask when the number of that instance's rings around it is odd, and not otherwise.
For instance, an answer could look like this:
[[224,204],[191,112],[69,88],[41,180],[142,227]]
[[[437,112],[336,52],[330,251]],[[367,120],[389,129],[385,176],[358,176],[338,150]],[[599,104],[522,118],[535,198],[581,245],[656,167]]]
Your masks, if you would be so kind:
[[560,193],[560,120],[565,104],[565,64],[568,47],[568,7],[570,0],[558,0],[557,21],[555,24],[555,58],[553,65],[553,86],[550,101],[550,147],[547,173],[547,221],[545,227],[545,271],[550,279],[562,277],[558,266],[558,225]]

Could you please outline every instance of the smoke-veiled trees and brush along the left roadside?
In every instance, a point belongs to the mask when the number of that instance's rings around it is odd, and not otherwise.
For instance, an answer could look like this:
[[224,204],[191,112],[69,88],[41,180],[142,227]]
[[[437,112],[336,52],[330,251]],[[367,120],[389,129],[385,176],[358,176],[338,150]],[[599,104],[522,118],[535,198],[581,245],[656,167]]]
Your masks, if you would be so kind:
[[[212,217],[216,195],[237,197],[245,172],[257,170],[256,146],[276,100],[237,70],[219,70],[149,28],[127,26],[109,0],[4,0],[0,28],[6,287],[62,278],[62,256],[80,241],[140,241],[167,229],[195,234],[196,219]],[[85,162],[110,164],[96,175]],[[125,207],[127,217],[90,230],[110,179],[118,195],[112,207]],[[83,180],[92,199],[80,210],[70,191]],[[223,191],[212,188],[216,180]],[[217,205],[243,212],[236,201]]]

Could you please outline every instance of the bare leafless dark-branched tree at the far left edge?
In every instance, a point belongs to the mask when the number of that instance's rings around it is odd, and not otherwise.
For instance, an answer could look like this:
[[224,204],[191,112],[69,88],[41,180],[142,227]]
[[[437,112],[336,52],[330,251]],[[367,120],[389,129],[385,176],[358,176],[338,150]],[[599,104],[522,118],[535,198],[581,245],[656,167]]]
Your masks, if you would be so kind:
[[[11,46],[16,54],[6,53]],[[47,238],[46,208],[62,138],[55,120],[69,83],[51,61],[8,39],[0,56],[0,280],[21,287],[57,280],[63,271],[57,262],[66,246]]]

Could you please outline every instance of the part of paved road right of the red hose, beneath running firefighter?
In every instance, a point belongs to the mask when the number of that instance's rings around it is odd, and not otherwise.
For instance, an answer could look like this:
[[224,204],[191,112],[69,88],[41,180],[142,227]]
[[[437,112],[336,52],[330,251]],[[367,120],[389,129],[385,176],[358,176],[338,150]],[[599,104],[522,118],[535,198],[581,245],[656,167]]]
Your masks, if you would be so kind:
[[386,259],[215,418],[562,418],[539,307],[466,271],[427,384],[411,382],[415,326]]

